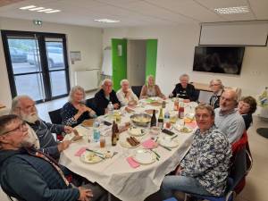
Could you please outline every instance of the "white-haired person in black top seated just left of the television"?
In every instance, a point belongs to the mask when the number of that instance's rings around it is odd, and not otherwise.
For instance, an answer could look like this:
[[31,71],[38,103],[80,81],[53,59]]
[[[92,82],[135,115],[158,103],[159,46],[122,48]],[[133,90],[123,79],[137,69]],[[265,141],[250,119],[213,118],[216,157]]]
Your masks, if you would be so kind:
[[196,88],[188,83],[188,74],[180,75],[180,83],[173,89],[170,97],[180,97],[186,100],[186,102],[197,101]]

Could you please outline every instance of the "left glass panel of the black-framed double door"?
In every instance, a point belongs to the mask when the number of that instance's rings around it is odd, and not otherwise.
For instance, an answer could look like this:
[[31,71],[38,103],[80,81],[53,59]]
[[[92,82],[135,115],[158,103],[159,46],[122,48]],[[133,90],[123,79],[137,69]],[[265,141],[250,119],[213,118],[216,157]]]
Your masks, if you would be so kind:
[[36,101],[44,100],[38,39],[7,38],[7,41],[16,94],[28,95]]

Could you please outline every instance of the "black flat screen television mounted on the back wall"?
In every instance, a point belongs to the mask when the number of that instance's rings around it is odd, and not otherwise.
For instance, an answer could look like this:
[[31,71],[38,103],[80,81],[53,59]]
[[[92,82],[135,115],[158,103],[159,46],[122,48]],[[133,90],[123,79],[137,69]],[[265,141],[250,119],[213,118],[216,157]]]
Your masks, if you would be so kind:
[[196,46],[193,71],[239,75],[245,46]]

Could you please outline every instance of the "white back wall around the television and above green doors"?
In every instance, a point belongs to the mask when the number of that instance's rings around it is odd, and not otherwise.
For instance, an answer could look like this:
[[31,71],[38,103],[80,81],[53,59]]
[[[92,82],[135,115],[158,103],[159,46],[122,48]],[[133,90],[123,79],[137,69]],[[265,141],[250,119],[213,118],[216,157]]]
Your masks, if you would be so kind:
[[165,95],[171,93],[182,73],[188,73],[190,81],[202,83],[221,79],[225,86],[242,88],[242,96],[257,96],[268,86],[267,46],[246,47],[239,76],[192,71],[199,32],[198,25],[104,29],[103,45],[110,44],[111,38],[157,38],[156,83]]

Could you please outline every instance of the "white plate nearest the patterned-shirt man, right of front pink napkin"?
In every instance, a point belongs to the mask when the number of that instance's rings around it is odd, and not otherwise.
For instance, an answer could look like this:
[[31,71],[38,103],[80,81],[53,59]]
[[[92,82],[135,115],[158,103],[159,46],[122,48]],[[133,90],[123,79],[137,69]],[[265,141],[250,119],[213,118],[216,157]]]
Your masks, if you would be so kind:
[[156,156],[153,152],[147,149],[138,149],[133,155],[133,159],[141,164],[155,163]]

